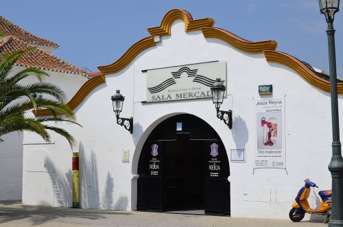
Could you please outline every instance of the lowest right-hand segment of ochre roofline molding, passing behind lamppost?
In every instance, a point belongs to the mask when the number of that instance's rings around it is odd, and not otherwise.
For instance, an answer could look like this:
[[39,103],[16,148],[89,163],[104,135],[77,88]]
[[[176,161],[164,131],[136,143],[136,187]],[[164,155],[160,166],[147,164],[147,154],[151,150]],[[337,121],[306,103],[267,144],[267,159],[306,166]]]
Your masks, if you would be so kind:
[[[330,92],[330,82],[324,80],[316,73],[311,71],[303,62],[288,55],[287,53],[281,53],[279,51],[264,51],[265,59],[268,62],[275,62],[283,64],[301,75],[307,82],[322,89],[323,91]],[[343,83],[338,83],[338,94],[343,95]]]

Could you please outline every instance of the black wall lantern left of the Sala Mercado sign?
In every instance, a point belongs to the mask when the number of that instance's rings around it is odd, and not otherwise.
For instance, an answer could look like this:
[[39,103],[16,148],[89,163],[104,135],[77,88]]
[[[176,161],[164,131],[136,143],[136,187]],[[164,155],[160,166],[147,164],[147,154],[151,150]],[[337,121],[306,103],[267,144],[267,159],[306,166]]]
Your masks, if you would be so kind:
[[113,104],[113,112],[115,112],[115,117],[117,117],[117,123],[120,126],[124,126],[126,130],[128,130],[131,134],[133,132],[133,117],[131,118],[121,118],[119,117],[121,110],[123,110],[123,101],[125,97],[121,95],[120,90],[117,90],[115,95],[110,97],[112,99]]

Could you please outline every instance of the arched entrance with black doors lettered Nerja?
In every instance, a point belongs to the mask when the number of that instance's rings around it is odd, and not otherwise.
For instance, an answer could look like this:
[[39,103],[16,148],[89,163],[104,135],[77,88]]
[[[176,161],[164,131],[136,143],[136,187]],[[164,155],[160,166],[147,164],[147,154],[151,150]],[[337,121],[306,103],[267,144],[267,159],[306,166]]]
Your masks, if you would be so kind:
[[193,115],[158,124],[138,165],[137,209],[230,214],[228,156],[217,132]]

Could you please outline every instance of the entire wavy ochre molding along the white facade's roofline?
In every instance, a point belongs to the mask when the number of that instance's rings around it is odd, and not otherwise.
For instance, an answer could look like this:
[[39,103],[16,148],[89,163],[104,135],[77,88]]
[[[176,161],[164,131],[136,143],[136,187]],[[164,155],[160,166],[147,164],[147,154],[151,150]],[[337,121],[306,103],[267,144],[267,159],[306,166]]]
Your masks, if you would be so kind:
[[[134,60],[134,58],[139,55],[139,53],[145,49],[154,47],[156,45],[156,43],[154,43],[154,36],[170,35],[171,25],[178,19],[185,21],[185,32],[201,30],[205,38],[217,38],[223,40],[224,42],[229,43],[237,49],[247,53],[263,52],[268,62],[283,64],[299,73],[310,84],[313,84],[324,91],[330,91],[330,83],[318,77],[314,72],[306,67],[305,64],[296,58],[287,55],[286,53],[275,51],[277,47],[276,41],[267,40],[261,42],[250,42],[248,40],[244,40],[243,38],[239,38],[238,36],[235,36],[224,29],[213,28],[215,23],[213,19],[206,18],[194,20],[191,14],[185,10],[170,10],[163,17],[159,27],[147,29],[151,35],[150,37],[143,38],[137,43],[134,43],[134,45],[132,45],[132,47],[130,47],[130,49],[128,49],[128,51],[121,56],[121,58],[119,58],[116,62],[113,62],[113,64],[98,67],[102,75],[88,80],[88,82],[86,82],[80,88],[78,93],[76,93],[67,104],[71,110],[74,110],[76,107],[78,107],[78,105],[80,105],[84,98],[86,98],[86,96],[91,93],[94,88],[106,82],[105,75],[117,73],[123,70],[128,66],[128,64],[130,64],[130,62],[132,62],[132,60]],[[343,83],[338,84],[338,93],[343,94]],[[36,116],[49,115],[51,115],[49,110],[37,110],[36,112]]]

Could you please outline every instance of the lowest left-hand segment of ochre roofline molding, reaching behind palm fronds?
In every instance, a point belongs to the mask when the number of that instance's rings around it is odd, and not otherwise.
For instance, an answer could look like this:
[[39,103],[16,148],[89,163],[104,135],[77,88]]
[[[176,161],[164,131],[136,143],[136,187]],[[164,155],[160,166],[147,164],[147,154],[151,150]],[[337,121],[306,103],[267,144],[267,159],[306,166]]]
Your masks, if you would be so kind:
[[[67,106],[71,108],[71,110],[75,110],[81,102],[86,98],[86,96],[93,91],[94,88],[99,86],[100,84],[104,84],[106,82],[104,75],[99,75],[97,77],[93,77],[91,80],[88,80],[80,90],[74,95],[74,97],[67,103]],[[43,116],[50,116],[51,111],[47,109],[40,109],[36,111],[36,117],[43,117]]]

